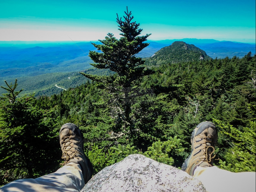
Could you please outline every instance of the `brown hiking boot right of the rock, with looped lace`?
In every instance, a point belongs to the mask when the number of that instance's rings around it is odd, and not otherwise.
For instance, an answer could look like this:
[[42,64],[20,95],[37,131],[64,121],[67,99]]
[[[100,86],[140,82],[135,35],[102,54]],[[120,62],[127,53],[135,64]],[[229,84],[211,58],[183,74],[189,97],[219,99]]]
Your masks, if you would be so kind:
[[218,138],[215,124],[209,121],[199,123],[191,135],[191,154],[183,163],[181,169],[193,176],[196,167],[212,167]]

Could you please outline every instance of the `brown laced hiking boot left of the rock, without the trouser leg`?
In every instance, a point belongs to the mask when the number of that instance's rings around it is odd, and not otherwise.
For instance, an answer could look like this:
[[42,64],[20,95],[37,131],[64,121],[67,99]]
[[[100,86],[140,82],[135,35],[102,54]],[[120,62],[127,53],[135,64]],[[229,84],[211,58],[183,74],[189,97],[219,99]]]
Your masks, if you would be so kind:
[[67,163],[78,163],[81,166],[85,183],[87,183],[93,174],[93,168],[90,160],[84,153],[84,138],[80,129],[72,123],[66,123],[60,128],[60,147],[62,150],[62,159]]

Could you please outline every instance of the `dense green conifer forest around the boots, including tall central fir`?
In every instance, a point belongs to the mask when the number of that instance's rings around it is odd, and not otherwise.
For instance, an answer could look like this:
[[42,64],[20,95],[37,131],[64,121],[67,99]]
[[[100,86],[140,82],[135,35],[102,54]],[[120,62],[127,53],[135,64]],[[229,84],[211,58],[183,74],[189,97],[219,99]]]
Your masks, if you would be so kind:
[[[201,121],[216,124],[216,166],[255,171],[255,55],[191,56],[196,48],[182,42],[144,61],[134,54],[147,46],[149,35],[138,36],[139,25],[126,13],[124,21],[118,18],[123,37],[108,34],[101,46],[94,45],[102,53],[90,52],[96,68],[115,73],[82,73],[92,81],[39,98],[19,96],[18,81],[6,82],[0,98],[0,186],[55,171],[61,163],[59,129],[67,122],[82,130],[94,174],[134,153],[180,168]],[[129,27],[136,33],[127,36]],[[173,52],[179,49],[182,55]],[[177,54],[181,59],[171,60]]]

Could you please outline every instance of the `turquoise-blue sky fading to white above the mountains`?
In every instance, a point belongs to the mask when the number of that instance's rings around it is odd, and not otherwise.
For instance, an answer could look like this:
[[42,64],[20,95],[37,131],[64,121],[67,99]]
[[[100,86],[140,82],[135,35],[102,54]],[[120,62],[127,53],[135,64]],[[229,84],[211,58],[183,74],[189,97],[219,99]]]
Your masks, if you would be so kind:
[[255,43],[255,0],[0,0],[0,41],[119,38],[116,13],[132,11],[149,40],[216,39]]

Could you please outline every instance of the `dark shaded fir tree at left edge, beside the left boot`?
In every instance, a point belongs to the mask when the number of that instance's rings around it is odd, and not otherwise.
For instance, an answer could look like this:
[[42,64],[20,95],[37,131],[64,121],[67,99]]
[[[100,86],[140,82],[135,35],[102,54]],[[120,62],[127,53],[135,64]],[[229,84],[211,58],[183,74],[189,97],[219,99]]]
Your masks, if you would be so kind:
[[7,88],[1,88],[7,93],[0,97],[0,186],[49,174],[59,166],[61,156],[52,111],[35,105],[34,95],[18,97],[17,79],[5,83]]

